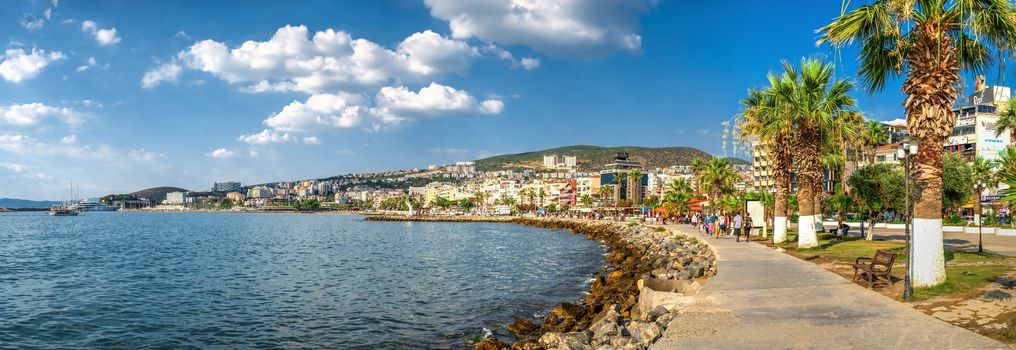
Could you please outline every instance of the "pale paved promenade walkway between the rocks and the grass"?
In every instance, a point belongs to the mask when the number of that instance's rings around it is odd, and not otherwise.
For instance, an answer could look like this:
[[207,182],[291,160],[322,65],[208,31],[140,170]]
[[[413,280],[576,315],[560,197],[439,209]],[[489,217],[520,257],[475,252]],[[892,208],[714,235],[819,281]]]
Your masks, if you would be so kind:
[[1009,348],[763,245],[703,240],[717,275],[652,349]]

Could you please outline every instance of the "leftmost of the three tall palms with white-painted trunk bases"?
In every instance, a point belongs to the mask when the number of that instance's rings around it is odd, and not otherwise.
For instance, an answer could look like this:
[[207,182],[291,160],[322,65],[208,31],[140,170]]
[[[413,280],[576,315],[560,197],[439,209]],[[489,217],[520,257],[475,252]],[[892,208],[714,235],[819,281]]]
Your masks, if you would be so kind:
[[786,240],[787,197],[790,194],[790,168],[793,152],[793,125],[787,103],[774,93],[779,76],[770,72],[769,88],[751,90],[741,101],[741,117],[744,119],[741,132],[745,137],[754,138],[764,151],[765,161],[772,172],[775,192],[773,195],[773,239]]

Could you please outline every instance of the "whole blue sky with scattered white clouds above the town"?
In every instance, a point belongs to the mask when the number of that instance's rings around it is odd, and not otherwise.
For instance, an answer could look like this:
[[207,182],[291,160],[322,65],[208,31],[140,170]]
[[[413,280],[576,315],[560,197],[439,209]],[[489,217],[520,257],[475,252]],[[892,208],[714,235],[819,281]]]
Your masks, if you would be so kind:
[[[0,197],[578,143],[719,154],[720,122],[781,59],[856,71],[853,49],[815,46],[836,2],[508,2],[6,0]],[[889,120],[898,91],[855,96]]]

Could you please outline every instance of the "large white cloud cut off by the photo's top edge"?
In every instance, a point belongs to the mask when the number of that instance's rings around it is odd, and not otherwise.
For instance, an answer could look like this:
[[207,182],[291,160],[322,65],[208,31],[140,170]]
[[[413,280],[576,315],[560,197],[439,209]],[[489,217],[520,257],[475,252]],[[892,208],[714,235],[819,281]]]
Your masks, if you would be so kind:
[[425,0],[452,37],[525,45],[555,56],[604,56],[642,46],[638,13],[654,0]]

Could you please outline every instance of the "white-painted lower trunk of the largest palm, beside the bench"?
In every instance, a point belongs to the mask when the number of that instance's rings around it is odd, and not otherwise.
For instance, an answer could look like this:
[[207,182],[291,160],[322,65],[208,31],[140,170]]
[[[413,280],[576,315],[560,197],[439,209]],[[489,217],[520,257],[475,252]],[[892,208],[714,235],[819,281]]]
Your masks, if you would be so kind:
[[946,281],[945,254],[942,247],[941,219],[913,219],[913,286],[935,286]]

